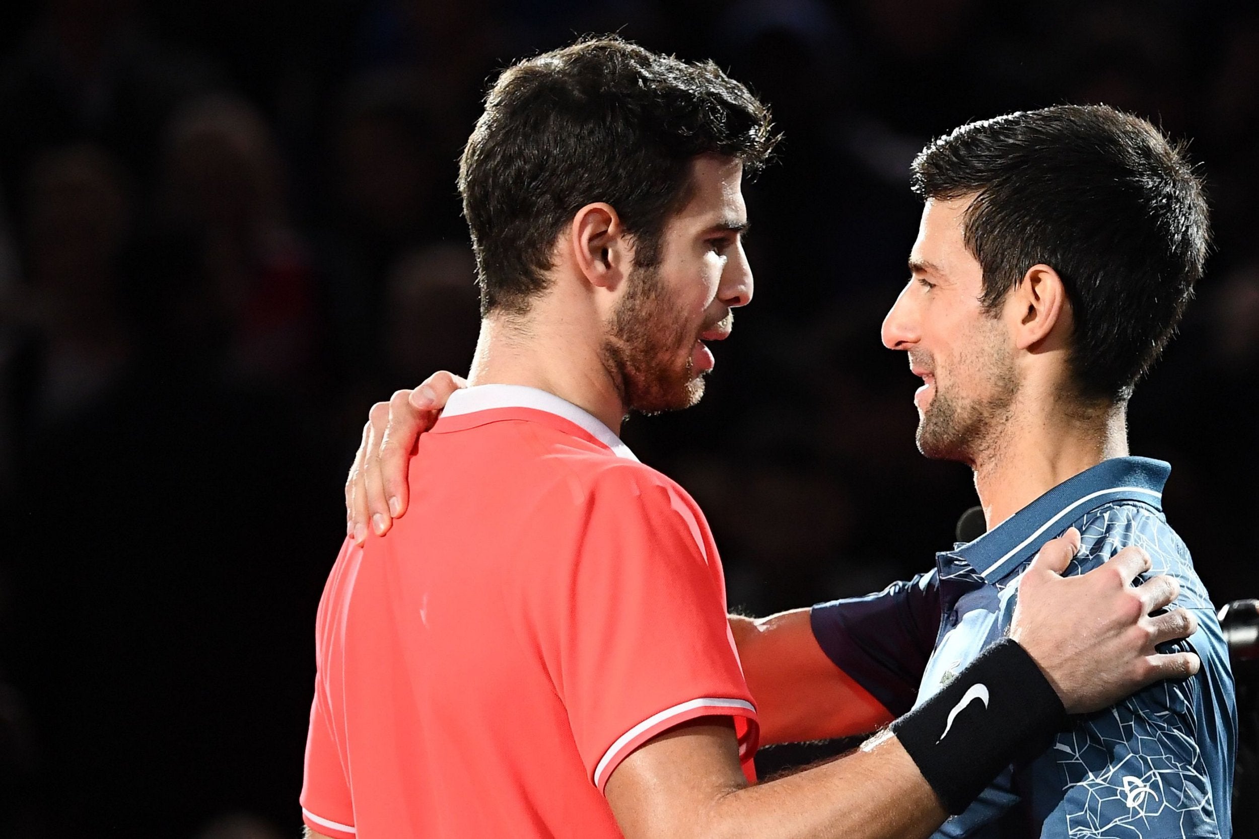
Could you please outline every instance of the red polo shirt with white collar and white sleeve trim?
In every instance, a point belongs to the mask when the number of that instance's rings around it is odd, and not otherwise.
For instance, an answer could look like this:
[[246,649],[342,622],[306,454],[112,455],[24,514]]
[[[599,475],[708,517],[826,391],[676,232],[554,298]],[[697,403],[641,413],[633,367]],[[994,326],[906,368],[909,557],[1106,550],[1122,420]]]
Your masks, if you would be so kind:
[[635,748],[752,697],[704,516],[551,394],[451,397],[410,509],[346,541],[320,603],[302,813],[350,839],[618,836]]

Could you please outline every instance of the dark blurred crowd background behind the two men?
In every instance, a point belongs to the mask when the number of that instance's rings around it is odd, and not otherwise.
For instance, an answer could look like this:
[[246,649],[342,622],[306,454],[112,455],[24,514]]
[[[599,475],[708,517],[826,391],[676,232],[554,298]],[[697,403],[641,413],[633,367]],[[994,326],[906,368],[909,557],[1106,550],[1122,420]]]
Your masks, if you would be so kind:
[[[1259,594],[1259,15],[1211,0],[8,0],[0,5],[0,833],[293,835],[315,606],[369,405],[462,371],[456,158],[577,33],[773,106],[755,303],[690,411],[633,419],[754,614],[925,570],[974,503],[914,449],[879,323],[962,122],[1107,102],[1192,137],[1217,248],[1132,401],[1217,604]],[[768,752],[767,764],[776,760]]]

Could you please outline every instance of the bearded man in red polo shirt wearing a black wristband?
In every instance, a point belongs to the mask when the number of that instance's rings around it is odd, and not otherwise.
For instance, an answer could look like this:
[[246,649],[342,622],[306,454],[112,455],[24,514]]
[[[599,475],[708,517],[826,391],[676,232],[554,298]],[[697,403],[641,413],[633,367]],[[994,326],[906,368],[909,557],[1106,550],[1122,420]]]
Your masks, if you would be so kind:
[[[749,786],[759,726],[689,496],[617,438],[686,408],[752,298],[744,171],[768,113],[617,39],[506,70],[463,153],[472,387],[347,538],[320,604],[302,809],[316,836],[925,836],[1064,712],[1196,668],[1139,552],[1021,584],[1011,640],[844,760]],[[1078,628],[1088,625],[1090,634]],[[997,678],[1000,677],[1000,678]]]

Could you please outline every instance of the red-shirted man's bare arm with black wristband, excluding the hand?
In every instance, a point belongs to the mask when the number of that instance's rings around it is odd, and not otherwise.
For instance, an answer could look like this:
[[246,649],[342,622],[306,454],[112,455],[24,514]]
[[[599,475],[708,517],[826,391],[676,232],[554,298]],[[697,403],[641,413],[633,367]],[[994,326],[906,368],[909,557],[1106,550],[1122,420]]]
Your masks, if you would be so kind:
[[895,737],[830,764],[748,787],[733,723],[704,718],[626,757],[606,794],[628,839],[927,836],[1063,716],[1035,662],[1002,642],[893,723]]

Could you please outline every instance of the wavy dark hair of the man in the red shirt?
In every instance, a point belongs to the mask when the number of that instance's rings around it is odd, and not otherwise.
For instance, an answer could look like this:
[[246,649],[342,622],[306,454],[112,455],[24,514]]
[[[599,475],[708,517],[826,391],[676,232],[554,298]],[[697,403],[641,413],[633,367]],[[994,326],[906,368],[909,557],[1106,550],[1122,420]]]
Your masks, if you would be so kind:
[[481,312],[525,311],[555,238],[594,201],[616,208],[650,267],[689,197],[690,161],[715,152],[754,174],[776,140],[768,108],[711,62],[604,36],[507,68],[460,162]]

